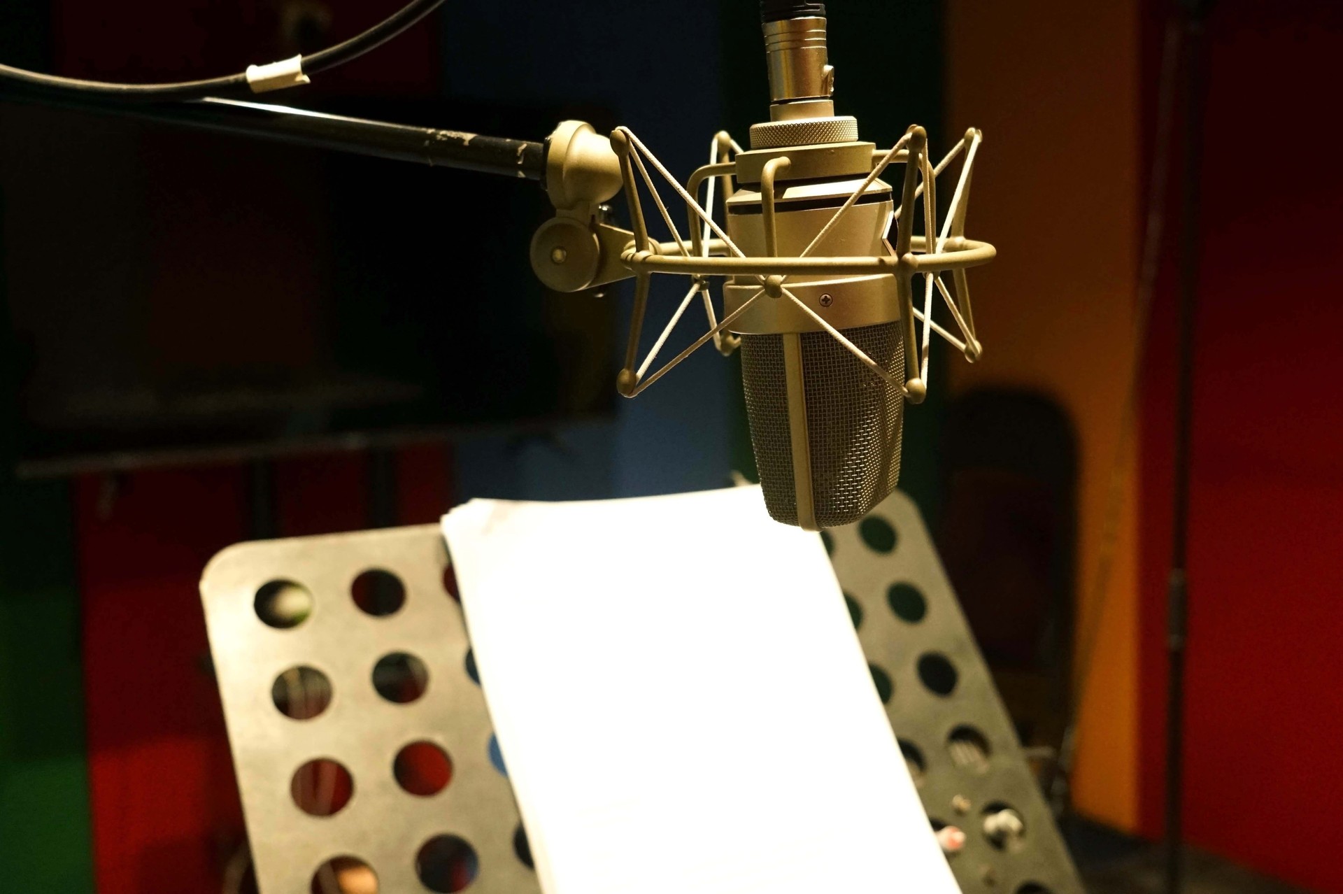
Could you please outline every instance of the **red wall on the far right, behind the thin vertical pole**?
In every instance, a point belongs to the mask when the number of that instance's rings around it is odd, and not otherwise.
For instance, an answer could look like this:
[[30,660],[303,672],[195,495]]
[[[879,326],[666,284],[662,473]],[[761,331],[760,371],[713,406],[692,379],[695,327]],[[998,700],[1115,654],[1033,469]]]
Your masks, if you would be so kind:
[[[1168,5],[1148,3],[1150,101]],[[1343,803],[1343,4],[1219,0],[1209,44],[1186,831],[1238,862],[1343,890],[1343,836],[1330,820]],[[1152,835],[1163,787],[1172,247],[1167,258],[1142,444],[1140,795]]]

